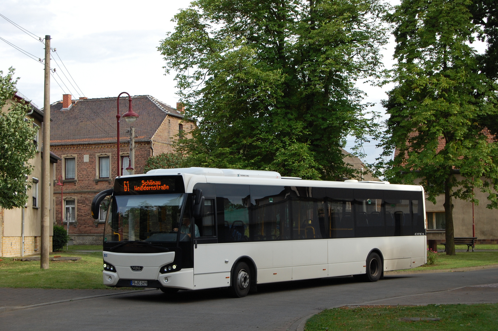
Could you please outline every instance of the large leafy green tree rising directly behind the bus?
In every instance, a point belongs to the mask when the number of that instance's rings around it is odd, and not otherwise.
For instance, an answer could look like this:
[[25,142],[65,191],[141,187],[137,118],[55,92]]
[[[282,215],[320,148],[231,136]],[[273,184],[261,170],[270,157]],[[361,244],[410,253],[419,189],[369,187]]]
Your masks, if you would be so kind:
[[351,177],[339,150],[375,126],[355,83],[378,77],[379,0],[197,0],[158,50],[193,138],[185,165]]

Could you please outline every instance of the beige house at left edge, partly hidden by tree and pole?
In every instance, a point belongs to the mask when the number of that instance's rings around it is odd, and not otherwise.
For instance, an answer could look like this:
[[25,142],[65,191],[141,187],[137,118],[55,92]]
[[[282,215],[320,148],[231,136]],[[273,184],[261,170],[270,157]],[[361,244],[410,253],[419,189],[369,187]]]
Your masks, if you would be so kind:
[[[35,157],[29,160],[33,165],[33,172],[28,176],[31,188],[28,190],[29,199],[24,208],[5,209],[0,206],[0,256],[24,256],[39,253],[41,243],[41,161],[43,137],[43,111],[30,102],[21,93],[17,92],[13,99],[7,100],[1,109],[2,113],[8,112],[15,103],[28,103],[31,112],[26,114],[27,119],[33,120],[33,126],[38,128],[38,133],[33,139],[36,145]],[[61,158],[50,152],[50,239],[49,249],[52,251],[52,233],[54,220],[53,185],[55,164]]]

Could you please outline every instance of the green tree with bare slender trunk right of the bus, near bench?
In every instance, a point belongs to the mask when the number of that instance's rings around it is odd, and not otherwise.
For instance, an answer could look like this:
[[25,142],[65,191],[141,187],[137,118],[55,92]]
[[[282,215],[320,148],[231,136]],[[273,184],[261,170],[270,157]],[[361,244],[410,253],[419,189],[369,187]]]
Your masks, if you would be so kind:
[[[479,71],[468,0],[403,0],[394,24],[395,87],[377,169],[393,182],[421,180],[429,201],[444,194],[447,254],[455,254],[453,198],[488,192],[497,207],[497,144],[479,118],[497,115],[496,85]],[[457,173],[460,176],[455,176]]]

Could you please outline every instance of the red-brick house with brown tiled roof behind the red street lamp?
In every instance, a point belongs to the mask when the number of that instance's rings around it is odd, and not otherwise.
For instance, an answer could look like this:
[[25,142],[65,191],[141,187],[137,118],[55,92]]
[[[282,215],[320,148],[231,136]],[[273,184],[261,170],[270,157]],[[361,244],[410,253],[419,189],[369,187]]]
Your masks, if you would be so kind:
[[[120,113],[128,110],[128,98],[120,98]],[[128,124],[120,120],[120,157],[123,174],[129,165],[130,127],[135,128],[135,174],[143,172],[151,156],[173,151],[172,143],[179,134],[189,136],[195,123],[151,96],[134,96],[133,111],[138,119]],[[177,105],[178,107],[179,105]],[[98,192],[113,187],[117,166],[117,98],[63,100],[51,105],[50,146],[62,162],[55,168],[55,221],[64,226],[69,221],[69,235],[74,244],[100,244],[104,231],[104,209],[98,220],[91,215],[90,205]],[[63,206],[63,207],[61,207]]]

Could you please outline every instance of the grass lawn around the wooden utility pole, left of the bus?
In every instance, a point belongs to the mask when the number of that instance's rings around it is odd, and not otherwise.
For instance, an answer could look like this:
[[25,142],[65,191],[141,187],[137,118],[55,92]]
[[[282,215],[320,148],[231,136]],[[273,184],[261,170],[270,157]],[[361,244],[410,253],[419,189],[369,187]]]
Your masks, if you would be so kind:
[[0,261],[0,287],[47,289],[105,289],[102,284],[102,253],[58,252],[53,255],[81,256],[79,261],[50,261],[47,270],[40,261]]

